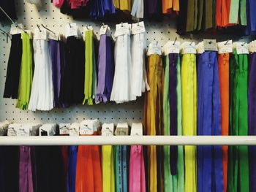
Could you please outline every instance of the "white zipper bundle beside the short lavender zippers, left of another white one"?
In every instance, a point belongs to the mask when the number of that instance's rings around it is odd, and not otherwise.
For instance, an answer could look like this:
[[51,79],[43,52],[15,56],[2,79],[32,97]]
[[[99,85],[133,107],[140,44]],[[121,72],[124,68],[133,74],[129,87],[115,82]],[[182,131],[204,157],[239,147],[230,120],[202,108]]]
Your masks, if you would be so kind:
[[124,103],[134,101],[132,95],[132,55],[130,34],[120,35],[115,45],[115,74],[110,101]]

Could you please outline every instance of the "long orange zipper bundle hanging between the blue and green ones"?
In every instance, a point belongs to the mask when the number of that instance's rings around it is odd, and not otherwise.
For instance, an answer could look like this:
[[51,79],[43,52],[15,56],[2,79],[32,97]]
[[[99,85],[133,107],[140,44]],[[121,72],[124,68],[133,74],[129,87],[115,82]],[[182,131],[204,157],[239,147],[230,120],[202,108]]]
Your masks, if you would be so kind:
[[[230,54],[223,53],[218,55],[219,67],[219,93],[221,107],[221,130],[222,135],[228,135],[229,131],[229,60]],[[227,191],[227,159],[228,146],[222,146],[222,166],[223,166],[223,188]]]

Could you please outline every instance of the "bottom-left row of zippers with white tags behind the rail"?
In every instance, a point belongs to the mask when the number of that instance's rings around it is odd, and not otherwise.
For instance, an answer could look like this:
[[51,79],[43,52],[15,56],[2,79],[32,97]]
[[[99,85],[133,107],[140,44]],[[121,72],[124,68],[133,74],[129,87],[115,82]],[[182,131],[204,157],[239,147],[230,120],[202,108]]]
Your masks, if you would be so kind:
[[[1,135],[67,135],[80,128],[80,135],[97,135],[99,120],[81,123],[10,124],[0,123]],[[9,127],[9,128],[8,128]],[[5,131],[6,130],[6,131]],[[8,131],[7,131],[8,130]],[[7,133],[8,132],[8,133]],[[132,123],[131,135],[142,135],[141,123]],[[127,135],[127,123],[102,124],[105,136]],[[12,135],[13,136],[13,135]],[[116,136],[118,137],[118,136]],[[1,191],[143,191],[146,180],[143,146],[50,146],[0,147]]]

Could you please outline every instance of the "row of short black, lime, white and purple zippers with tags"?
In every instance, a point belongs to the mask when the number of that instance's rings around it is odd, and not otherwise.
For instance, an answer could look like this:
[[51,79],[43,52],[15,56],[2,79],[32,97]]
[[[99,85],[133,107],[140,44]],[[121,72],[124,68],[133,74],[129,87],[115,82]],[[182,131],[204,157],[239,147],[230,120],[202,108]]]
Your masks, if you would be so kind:
[[85,27],[84,39],[75,23],[67,25],[65,37],[38,26],[33,45],[32,34],[20,28],[11,28],[4,98],[18,99],[16,107],[22,110],[123,103],[149,89],[143,22],[117,25],[115,47],[105,25],[99,41],[91,26]]

